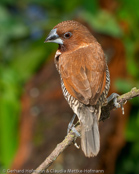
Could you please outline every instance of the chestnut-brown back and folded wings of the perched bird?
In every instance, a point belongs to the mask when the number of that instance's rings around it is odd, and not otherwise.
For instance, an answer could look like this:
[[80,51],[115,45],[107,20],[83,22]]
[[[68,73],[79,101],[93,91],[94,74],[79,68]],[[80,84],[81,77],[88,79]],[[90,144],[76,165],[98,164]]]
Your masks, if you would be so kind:
[[98,45],[62,54],[59,68],[67,91],[84,104],[96,104],[106,82],[106,63]]

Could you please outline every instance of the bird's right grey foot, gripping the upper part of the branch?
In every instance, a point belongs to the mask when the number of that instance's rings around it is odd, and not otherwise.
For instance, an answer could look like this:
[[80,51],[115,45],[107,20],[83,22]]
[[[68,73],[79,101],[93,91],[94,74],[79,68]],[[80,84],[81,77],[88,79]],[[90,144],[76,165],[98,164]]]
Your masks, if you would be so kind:
[[[108,98],[107,101],[108,103],[111,102],[113,100],[113,104],[116,108],[120,108],[122,109],[122,114],[124,115],[124,107],[123,107],[123,103],[120,104],[117,102],[117,98],[119,97],[119,94],[117,93],[112,93]],[[124,103],[125,104],[125,103]]]

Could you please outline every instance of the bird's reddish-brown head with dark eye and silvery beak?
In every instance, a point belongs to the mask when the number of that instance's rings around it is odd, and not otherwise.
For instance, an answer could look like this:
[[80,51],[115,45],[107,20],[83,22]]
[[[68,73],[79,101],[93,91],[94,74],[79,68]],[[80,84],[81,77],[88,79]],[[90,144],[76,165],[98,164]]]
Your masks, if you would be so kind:
[[76,21],[64,21],[50,31],[45,42],[57,43],[63,51],[71,51],[93,40],[94,37],[84,25]]

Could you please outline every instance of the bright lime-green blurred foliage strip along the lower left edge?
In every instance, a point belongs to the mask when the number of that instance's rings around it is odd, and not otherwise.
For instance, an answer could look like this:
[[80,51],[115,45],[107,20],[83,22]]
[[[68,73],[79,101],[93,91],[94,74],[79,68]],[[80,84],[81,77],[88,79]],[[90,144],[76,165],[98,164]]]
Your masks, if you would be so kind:
[[0,163],[8,167],[17,148],[20,80],[11,69],[0,67]]

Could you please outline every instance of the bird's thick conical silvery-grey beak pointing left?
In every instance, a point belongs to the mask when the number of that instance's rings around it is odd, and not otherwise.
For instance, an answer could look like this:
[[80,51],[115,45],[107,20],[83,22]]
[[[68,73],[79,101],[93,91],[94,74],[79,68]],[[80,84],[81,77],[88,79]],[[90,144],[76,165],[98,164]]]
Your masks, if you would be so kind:
[[60,39],[59,35],[57,34],[57,28],[52,29],[48,34],[47,38],[45,39],[44,43],[46,42],[54,42],[58,44],[63,44],[63,40]]

